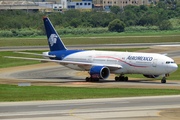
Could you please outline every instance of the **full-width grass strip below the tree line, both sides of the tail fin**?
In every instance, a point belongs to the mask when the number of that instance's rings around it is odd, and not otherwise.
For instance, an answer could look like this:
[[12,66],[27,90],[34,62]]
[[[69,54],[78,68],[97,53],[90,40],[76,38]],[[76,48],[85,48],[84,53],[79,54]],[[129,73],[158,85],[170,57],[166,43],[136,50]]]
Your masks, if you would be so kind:
[[[116,33],[115,33],[116,34]],[[146,34],[142,36],[133,36],[129,34],[127,36],[120,37],[111,33],[110,37],[108,34],[104,34],[100,37],[90,35],[87,37],[62,37],[65,45],[89,45],[89,44],[123,44],[123,43],[162,43],[162,42],[180,42],[180,36],[153,36],[147,37]],[[119,34],[119,33],[117,33]],[[177,33],[177,35],[179,35]],[[157,34],[159,35],[159,34]],[[48,45],[47,38],[36,37],[36,38],[0,38],[0,47],[5,46],[45,46]]]

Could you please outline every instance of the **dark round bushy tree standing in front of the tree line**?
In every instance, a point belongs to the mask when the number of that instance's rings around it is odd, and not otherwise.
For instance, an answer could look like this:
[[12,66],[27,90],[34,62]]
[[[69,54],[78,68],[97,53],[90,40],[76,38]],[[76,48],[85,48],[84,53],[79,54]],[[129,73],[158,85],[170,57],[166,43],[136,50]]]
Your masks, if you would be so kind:
[[115,32],[123,32],[125,28],[124,22],[120,21],[119,19],[115,19],[108,25],[109,31],[115,31]]

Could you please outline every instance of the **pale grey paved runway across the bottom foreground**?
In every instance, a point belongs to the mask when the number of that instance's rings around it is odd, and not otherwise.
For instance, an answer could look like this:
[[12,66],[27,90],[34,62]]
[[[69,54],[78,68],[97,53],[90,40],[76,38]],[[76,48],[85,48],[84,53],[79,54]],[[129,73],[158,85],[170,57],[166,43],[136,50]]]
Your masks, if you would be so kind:
[[180,95],[84,100],[4,102],[0,119],[178,120]]

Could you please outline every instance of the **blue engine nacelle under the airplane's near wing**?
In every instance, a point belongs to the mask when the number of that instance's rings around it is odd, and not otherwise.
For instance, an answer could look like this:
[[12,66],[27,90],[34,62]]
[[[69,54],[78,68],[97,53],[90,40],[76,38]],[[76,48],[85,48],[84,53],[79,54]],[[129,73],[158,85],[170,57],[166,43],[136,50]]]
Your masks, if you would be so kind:
[[109,77],[110,70],[105,66],[94,66],[90,69],[89,73],[92,78],[106,79]]

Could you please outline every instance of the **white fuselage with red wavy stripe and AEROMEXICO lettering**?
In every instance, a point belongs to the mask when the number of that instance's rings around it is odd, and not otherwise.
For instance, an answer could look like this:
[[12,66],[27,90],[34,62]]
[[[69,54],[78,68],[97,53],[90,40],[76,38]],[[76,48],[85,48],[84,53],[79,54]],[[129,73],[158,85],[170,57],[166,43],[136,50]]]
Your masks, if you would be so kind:
[[[121,65],[121,69],[111,69],[116,74],[162,75],[174,72],[177,64],[173,59],[155,53],[82,51],[66,56],[65,61],[94,63],[102,66]],[[90,70],[92,66],[67,64],[75,70]]]

